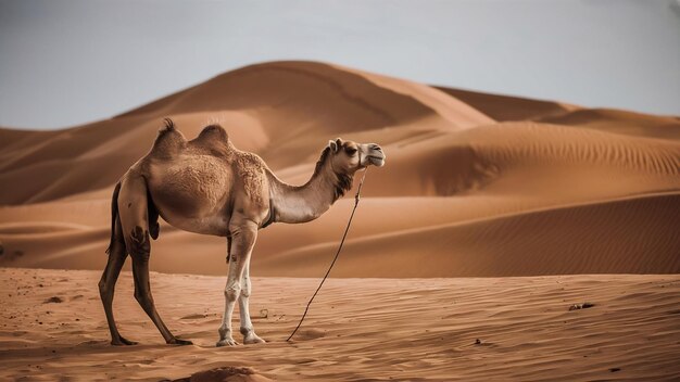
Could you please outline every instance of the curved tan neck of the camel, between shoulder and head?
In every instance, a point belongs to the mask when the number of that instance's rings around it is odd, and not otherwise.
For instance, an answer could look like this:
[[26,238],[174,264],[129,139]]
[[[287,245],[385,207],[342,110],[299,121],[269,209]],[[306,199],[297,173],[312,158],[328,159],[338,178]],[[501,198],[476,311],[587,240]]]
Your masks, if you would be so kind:
[[[302,186],[288,184],[267,170],[274,220],[306,222],[322,216],[352,186],[352,177],[333,171],[330,160],[317,164]],[[349,184],[349,186],[348,186]]]

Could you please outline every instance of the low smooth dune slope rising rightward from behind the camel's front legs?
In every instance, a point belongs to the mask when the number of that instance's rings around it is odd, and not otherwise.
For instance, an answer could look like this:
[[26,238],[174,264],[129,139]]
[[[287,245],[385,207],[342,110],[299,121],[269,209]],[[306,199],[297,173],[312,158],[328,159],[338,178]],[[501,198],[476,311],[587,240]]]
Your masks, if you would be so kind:
[[[375,234],[348,242],[332,275],[678,273],[678,214],[676,193]],[[336,245],[327,242],[260,257],[253,267],[267,276],[314,277],[328,266]]]

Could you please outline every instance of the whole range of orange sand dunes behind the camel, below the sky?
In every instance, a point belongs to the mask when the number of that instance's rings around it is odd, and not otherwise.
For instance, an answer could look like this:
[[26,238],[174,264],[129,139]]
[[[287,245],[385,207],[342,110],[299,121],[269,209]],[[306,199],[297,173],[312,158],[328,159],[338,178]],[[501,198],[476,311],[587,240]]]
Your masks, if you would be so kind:
[[[111,119],[0,129],[0,265],[103,267],[115,181],[163,117],[188,138],[222,124],[303,183],[336,137],[379,142],[336,277],[677,272],[677,117],[436,88],[332,64],[217,76]],[[9,186],[7,186],[9,184]],[[262,231],[254,275],[316,276],[352,195],[305,226]],[[221,275],[224,239],[162,224],[153,269]],[[376,250],[379,249],[379,250]],[[410,266],[412,256],[420,266]],[[372,267],[362,267],[370,258]]]

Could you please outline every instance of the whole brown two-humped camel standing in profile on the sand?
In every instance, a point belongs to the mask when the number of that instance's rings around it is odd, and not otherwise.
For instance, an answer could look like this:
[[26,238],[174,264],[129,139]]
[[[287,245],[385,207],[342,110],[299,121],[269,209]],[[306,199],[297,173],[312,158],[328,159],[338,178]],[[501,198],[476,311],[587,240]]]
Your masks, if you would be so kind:
[[191,344],[171,333],[151,295],[150,239],[159,237],[159,216],[186,231],[227,238],[229,270],[216,345],[238,344],[231,334],[237,301],[243,344],[264,343],[255,334],[248,310],[250,258],[257,231],[274,222],[316,219],[352,188],[357,170],[369,165],[380,167],[385,158],[378,144],[330,140],[312,178],[303,186],[291,186],[277,178],[260,156],[236,149],[222,126],[210,125],[187,141],[166,118],[149,153],[116,183],[111,201],[109,262],[99,282],[111,344],[136,344],[121,335],[112,308],[115,283],[128,255],[133,258],[135,298],[165,342]]

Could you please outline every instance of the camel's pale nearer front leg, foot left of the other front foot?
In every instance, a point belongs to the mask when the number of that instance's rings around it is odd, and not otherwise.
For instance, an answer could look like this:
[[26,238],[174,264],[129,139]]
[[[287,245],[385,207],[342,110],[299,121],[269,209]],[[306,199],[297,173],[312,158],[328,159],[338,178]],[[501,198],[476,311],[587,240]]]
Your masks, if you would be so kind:
[[231,331],[231,315],[236,302],[241,295],[241,279],[245,265],[250,262],[250,255],[257,238],[257,225],[251,220],[241,221],[238,225],[229,225],[231,232],[231,250],[229,260],[229,275],[225,286],[225,311],[219,326],[219,341],[217,346],[234,346],[238,343],[234,341]]

